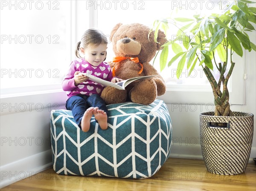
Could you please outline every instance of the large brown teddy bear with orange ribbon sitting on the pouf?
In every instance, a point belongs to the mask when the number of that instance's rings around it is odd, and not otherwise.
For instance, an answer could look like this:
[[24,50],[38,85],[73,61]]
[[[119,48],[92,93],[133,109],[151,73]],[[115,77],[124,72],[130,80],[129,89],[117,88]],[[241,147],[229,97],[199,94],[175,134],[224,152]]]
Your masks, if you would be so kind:
[[131,100],[134,103],[148,105],[156,99],[157,95],[166,92],[166,84],[156,69],[149,64],[156,52],[166,42],[163,31],[158,31],[157,42],[154,42],[154,31],[139,23],[128,25],[117,24],[111,31],[111,42],[116,55],[109,62],[113,76],[123,80],[157,75],[145,80],[137,80],[129,84],[125,90],[106,87],[101,94],[106,104],[123,103]]

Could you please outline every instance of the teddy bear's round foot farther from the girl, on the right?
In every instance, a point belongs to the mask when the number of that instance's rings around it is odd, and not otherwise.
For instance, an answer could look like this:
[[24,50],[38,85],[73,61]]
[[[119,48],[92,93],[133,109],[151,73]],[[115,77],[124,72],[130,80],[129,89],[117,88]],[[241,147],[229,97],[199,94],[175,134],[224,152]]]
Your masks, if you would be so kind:
[[143,80],[131,89],[129,95],[132,102],[148,105],[157,98],[157,85],[154,80]]

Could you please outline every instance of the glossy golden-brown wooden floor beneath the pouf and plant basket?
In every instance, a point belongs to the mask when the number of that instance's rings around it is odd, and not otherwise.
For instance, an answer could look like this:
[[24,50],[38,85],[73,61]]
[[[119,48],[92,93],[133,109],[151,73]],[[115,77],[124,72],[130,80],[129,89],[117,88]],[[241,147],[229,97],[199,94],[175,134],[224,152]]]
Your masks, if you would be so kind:
[[52,168],[35,174],[1,191],[256,191],[256,166],[248,164],[239,175],[216,175],[204,161],[169,158],[160,171],[144,180],[78,177],[55,174]]

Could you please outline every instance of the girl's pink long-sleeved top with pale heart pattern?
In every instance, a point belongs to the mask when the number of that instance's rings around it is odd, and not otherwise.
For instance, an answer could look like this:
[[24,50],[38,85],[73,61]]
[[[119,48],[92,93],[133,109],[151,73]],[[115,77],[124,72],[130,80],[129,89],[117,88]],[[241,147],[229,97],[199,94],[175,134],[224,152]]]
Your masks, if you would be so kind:
[[62,81],[62,88],[64,91],[67,91],[68,98],[81,94],[87,96],[92,94],[101,95],[102,90],[105,88],[105,86],[91,80],[87,80],[80,83],[78,86],[75,86],[74,74],[76,71],[92,74],[93,76],[109,82],[112,79],[112,71],[108,63],[102,62],[99,64],[99,66],[93,66],[83,58],[77,58],[71,62],[70,70]]

